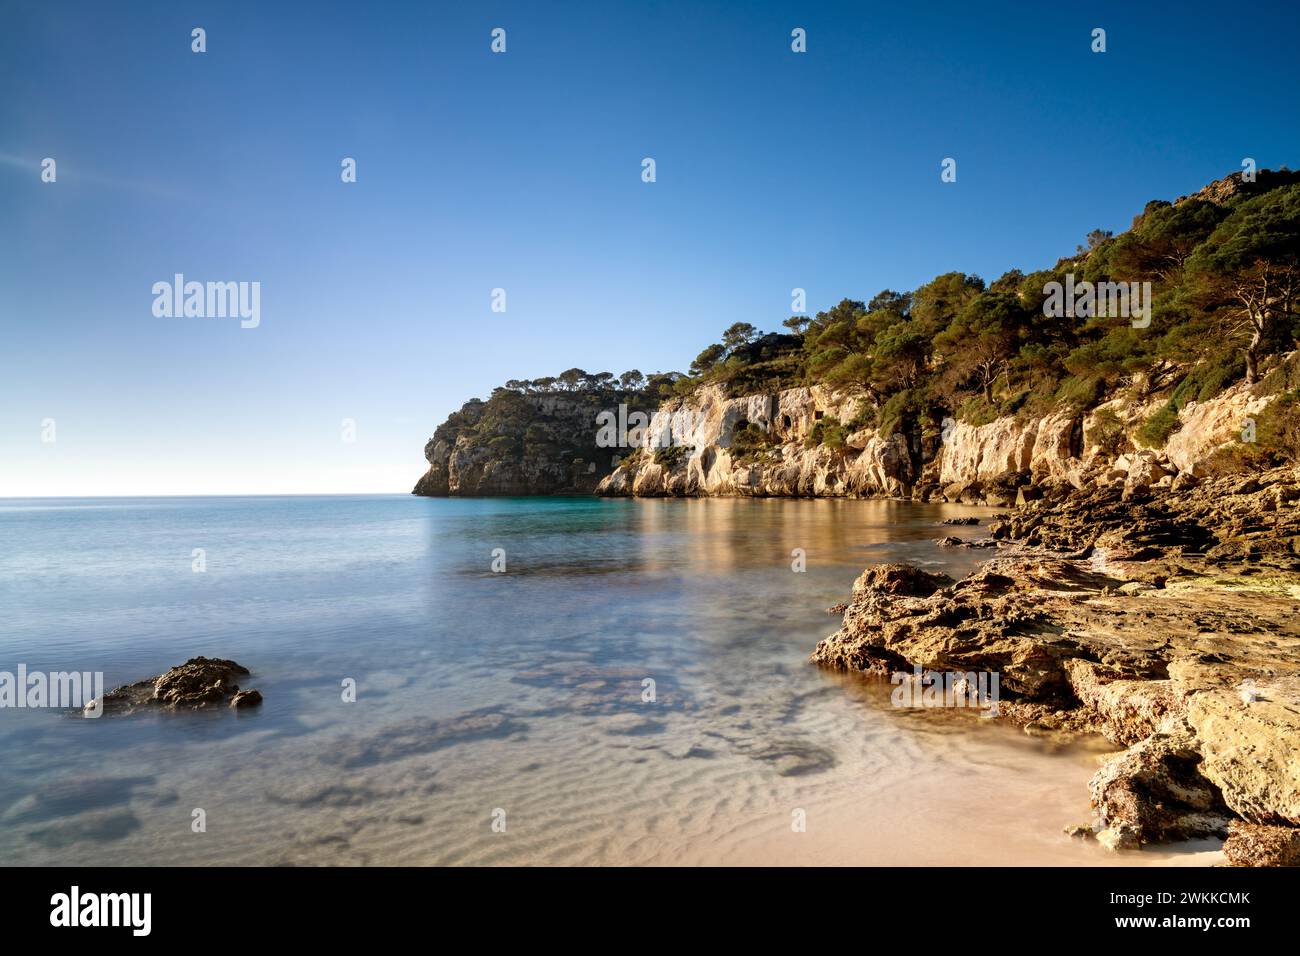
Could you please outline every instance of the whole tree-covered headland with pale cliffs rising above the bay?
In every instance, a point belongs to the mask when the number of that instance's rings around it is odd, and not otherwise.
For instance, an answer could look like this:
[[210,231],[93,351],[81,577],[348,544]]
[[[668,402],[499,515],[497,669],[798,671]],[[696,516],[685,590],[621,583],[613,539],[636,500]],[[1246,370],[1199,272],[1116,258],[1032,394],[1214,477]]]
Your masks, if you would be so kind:
[[[1138,297],[1134,315],[1117,289]],[[415,492],[1001,507],[1046,485],[1138,492],[1271,467],[1300,454],[1300,362],[1284,354],[1297,290],[1300,174],[1234,173],[1149,202],[1049,269],[944,273],[792,316],[793,334],[734,323],[686,376],[507,381],[438,428]]]

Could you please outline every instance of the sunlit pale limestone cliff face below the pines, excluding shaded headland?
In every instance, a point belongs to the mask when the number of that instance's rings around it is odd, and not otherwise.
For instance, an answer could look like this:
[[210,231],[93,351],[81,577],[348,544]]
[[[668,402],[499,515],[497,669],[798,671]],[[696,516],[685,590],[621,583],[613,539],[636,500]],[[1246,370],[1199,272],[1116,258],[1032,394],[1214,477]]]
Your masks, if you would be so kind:
[[[715,386],[666,405],[640,447],[595,485],[608,496],[905,497],[1005,506],[1034,485],[1122,483],[1131,490],[1195,480],[1206,462],[1240,440],[1244,423],[1271,395],[1247,385],[1188,403],[1160,449],[1132,433],[1164,399],[1117,398],[1089,412],[1066,408],[1041,418],[1004,416],[984,425],[956,423],[937,442],[910,446],[900,433],[848,425],[866,399],[822,386],[727,398]],[[809,447],[818,423],[848,431],[842,447]],[[746,428],[750,427],[750,428]],[[738,436],[766,436],[740,445]],[[1118,428],[1118,433],[1110,431]],[[668,447],[664,447],[664,446]],[[1027,489],[1027,490],[1022,490]]]

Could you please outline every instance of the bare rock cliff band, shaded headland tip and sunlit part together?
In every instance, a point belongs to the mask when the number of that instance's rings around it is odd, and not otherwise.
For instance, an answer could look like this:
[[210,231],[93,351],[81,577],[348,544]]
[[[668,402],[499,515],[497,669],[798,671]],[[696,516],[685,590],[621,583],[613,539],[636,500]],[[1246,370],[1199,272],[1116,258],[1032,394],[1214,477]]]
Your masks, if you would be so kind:
[[1134,436],[1169,403],[1167,389],[1087,412],[1058,407],[980,425],[949,419],[923,437],[866,424],[879,410],[853,390],[814,385],[733,397],[705,385],[642,408],[646,427],[611,444],[597,440],[597,415],[616,410],[618,395],[500,390],[438,428],[415,493],[910,497],[994,507],[1031,501],[1050,485],[1119,484],[1140,494],[1204,477],[1274,398],[1243,384],[1188,402],[1167,444],[1150,449]]

